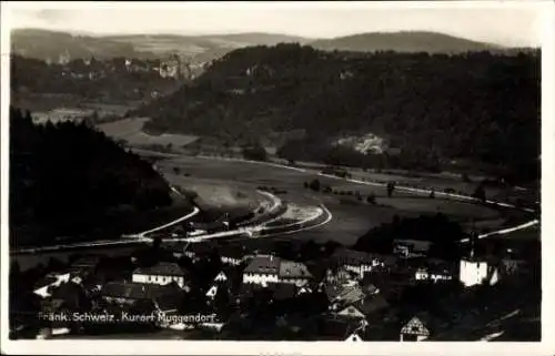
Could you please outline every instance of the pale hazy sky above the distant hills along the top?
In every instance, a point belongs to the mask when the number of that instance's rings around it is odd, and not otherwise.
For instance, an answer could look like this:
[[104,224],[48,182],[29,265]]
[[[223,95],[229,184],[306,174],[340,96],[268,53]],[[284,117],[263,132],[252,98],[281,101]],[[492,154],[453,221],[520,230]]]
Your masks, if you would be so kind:
[[534,3],[525,6],[511,1],[341,4],[6,3],[10,4],[11,28],[91,34],[272,32],[334,38],[362,32],[422,30],[508,47],[537,47],[542,30],[541,11]]

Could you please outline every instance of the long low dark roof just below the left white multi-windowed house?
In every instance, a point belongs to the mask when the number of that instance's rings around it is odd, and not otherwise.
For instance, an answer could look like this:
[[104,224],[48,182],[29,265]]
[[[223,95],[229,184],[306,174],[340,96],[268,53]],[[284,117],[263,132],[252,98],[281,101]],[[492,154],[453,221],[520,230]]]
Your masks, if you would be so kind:
[[110,282],[102,288],[103,296],[128,299],[155,299],[165,295],[179,294],[175,284],[158,285],[132,282]]

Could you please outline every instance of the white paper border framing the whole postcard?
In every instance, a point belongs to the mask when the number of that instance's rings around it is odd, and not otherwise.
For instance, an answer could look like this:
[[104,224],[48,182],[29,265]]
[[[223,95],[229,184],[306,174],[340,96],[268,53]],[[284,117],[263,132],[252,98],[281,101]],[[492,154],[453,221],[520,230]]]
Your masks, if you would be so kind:
[[[414,9],[414,8],[534,8],[541,14],[542,23],[542,275],[543,275],[543,302],[542,302],[542,343],[352,343],[343,342],[314,342],[314,343],[259,343],[259,342],[174,342],[174,340],[30,340],[12,342],[8,339],[8,267],[9,258],[0,258],[1,264],[1,339],[0,346],[6,354],[60,354],[79,355],[94,353],[98,355],[110,355],[113,353],[137,354],[137,355],[366,355],[366,354],[398,354],[398,355],[468,355],[468,354],[491,354],[491,355],[553,355],[555,354],[555,328],[553,318],[555,317],[553,302],[555,301],[554,284],[552,275],[555,273],[555,263],[548,256],[553,251],[552,236],[553,223],[547,216],[552,216],[554,211],[553,202],[554,186],[554,142],[555,142],[555,72],[553,64],[554,57],[554,33],[555,33],[555,7],[551,1],[447,1],[447,2],[2,2],[1,3],[1,79],[3,89],[1,91],[1,125],[0,125],[0,154],[1,154],[1,253],[8,254],[8,110],[9,110],[9,11],[10,9],[82,9],[82,8],[124,8],[124,9],[160,9],[160,8],[212,8],[228,7],[233,9],[243,8],[291,8],[302,9],[304,7],[315,7],[325,9]],[[507,23],[506,26],[511,26]],[[551,163],[551,164],[549,164]],[[547,212],[547,213],[545,213]],[[546,215],[547,214],[547,215]],[[545,218],[547,217],[547,218]],[[523,291],[526,293],[526,291]],[[518,296],[515,296],[518,297]],[[551,337],[549,337],[551,336]]]

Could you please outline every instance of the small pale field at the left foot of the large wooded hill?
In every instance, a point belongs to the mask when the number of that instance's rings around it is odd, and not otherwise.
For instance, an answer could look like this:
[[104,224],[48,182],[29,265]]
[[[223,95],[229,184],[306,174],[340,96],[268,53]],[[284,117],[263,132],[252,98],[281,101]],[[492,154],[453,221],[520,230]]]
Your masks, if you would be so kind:
[[143,124],[149,120],[150,119],[148,118],[124,119],[101,124],[99,125],[99,129],[108,136],[111,136],[115,140],[125,140],[128,144],[133,146],[149,146],[154,144],[168,146],[169,144],[171,144],[174,148],[181,148],[194,142],[198,139],[198,136],[183,134],[147,134],[141,130]]

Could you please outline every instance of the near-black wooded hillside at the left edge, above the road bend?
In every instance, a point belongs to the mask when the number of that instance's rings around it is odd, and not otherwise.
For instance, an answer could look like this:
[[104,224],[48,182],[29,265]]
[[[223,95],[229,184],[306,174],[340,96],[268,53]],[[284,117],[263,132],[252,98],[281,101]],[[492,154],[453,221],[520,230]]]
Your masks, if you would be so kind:
[[29,112],[10,108],[12,244],[84,238],[109,216],[171,203],[151,164],[103,133],[72,122],[37,125]]

